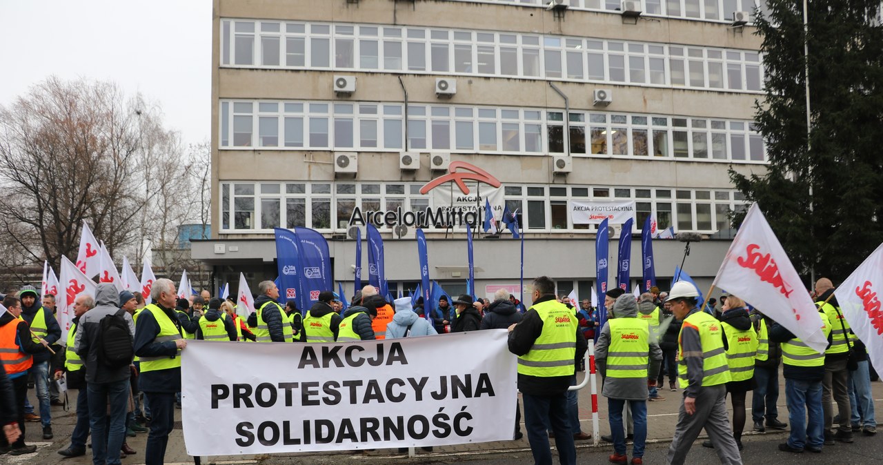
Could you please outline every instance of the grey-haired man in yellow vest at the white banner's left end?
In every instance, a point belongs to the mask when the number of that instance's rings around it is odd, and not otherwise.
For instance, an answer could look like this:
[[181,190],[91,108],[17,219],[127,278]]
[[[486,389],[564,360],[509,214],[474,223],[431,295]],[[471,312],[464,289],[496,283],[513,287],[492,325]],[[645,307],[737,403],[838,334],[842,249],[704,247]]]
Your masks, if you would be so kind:
[[150,406],[150,432],[144,460],[161,465],[175,425],[175,393],[181,391],[181,350],[187,341],[175,315],[175,283],[162,278],[150,289],[147,305],[135,327],[135,355],[140,357],[140,387]]

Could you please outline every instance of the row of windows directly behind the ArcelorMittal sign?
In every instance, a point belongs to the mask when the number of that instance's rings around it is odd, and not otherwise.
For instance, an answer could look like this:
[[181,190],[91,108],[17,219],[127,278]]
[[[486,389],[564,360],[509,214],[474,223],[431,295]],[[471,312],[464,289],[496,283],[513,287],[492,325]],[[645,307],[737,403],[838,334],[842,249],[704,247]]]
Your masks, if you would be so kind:
[[[345,232],[356,206],[362,211],[424,211],[432,205],[420,194],[423,184],[372,183],[221,183],[221,232],[272,232],[273,228],[306,226],[323,232]],[[732,236],[728,214],[746,206],[737,191],[648,189],[645,187],[538,185],[503,186],[510,212],[529,232],[578,232],[595,225],[573,224],[568,199],[634,199],[635,231],[648,214],[660,229]],[[381,229],[389,229],[381,227]]]

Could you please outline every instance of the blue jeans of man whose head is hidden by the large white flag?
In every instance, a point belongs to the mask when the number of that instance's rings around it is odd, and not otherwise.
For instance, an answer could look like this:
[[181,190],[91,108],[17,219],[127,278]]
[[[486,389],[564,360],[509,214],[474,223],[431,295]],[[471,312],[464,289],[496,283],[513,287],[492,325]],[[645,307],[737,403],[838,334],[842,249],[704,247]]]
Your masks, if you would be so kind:
[[[820,449],[825,444],[821,381],[786,378],[785,400],[788,403],[788,419],[791,424],[788,445],[801,450],[804,446]],[[808,424],[804,421],[807,415]]]

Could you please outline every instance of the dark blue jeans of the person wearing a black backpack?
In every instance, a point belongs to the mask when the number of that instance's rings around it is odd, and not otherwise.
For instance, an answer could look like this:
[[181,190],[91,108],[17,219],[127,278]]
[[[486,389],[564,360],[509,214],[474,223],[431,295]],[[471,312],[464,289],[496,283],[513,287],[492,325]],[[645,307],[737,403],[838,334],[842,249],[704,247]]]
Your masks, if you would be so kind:
[[120,448],[125,441],[129,379],[109,383],[88,383],[87,391],[89,426],[92,428],[92,462],[94,465],[117,465],[120,463]]

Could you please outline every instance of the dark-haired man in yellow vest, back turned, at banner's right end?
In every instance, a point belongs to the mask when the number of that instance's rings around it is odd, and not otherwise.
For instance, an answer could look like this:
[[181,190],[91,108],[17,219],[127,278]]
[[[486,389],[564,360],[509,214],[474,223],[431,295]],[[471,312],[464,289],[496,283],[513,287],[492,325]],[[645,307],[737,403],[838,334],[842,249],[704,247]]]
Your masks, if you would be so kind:
[[[509,326],[509,352],[518,356],[518,390],[525,401],[525,430],[533,461],[552,463],[546,425],[555,432],[555,447],[563,465],[577,463],[570,430],[567,391],[585,338],[577,338],[574,311],[555,299],[555,282],[546,276],[533,280],[532,306],[517,324]],[[581,342],[580,342],[581,341]]]

